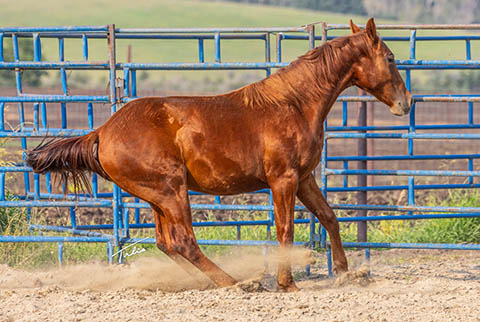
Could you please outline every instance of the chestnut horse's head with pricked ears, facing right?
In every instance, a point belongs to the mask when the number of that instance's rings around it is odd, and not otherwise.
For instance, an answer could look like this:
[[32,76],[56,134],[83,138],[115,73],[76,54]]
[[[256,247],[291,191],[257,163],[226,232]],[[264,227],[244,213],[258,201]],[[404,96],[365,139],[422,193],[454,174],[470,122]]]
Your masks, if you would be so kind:
[[392,114],[410,112],[412,95],[405,88],[393,53],[377,35],[373,18],[368,20],[365,30],[350,20],[350,29],[354,34],[364,33],[367,43],[367,50],[353,65],[354,84],[390,106]]

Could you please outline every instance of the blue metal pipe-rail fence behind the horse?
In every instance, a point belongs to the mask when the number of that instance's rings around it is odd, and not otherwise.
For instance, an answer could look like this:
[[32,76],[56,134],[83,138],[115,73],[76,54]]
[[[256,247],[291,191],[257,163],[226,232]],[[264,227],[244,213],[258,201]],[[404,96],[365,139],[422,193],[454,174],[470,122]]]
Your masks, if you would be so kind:
[[[45,27],[45,28],[0,28],[0,69],[9,69],[15,72],[16,96],[0,97],[0,137],[8,139],[19,139],[22,149],[27,149],[27,143],[35,138],[44,136],[68,137],[88,133],[94,128],[94,104],[106,103],[111,106],[111,113],[117,108],[137,97],[137,71],[139,70],[263,70],[270,75],[272,69],[288,65],[283,62],[283,47],[286,41],[308,41],[310,48],[315,47],[316,41],[325,42],[335,36],[330,36],[330,31],[337,31],[349,28],[347,25],[307,25],[294,28],[187,28],[187,29],[124,29],[115,28],[114,25],[106,26],[79,26],[79,27]],[[411,89],[412,70],[447,70],[447,69],[480,69],[480,61],[472,60],[471,43],[480,41],[476,35],[439,35],[439,36],[417,36],[417,30],[469,30],[480,29],[480,25],[384,25],[377,26],[378,29],[410,30],[410,35],[397,37],[383,37],[387,42],[406,42],[409,44],[409,59],[397,60],[400,70],[405,70],[407,88]],[[320,35],[315,34],[320,30]],[[33,41],[33,61],[22,61],[19,55],[19,38],[29,38]],[[55,61],[42,60],[42,40],[58,40],[58,59]],[[81,61],[65,60],[65,39],[81,39],[82,57]],[[105,59],[102,61],[91,61],[89,59],[89,41],[93,39],[104,39],[107,42]],[[197,42],[197,62],[171,62],[171,63],[133,63],[118,62],[116,44],[120,39],[129,40],[191,40]],[[275,39],[275,41],[272,41]],[[13,48],[13,61],[4,59],[4,41],[10,40]],[[212,41],[214,47],[213,60],[206,61],[205,40]],[[265,59],[258,62],[222,62],[222,41],[223,40],[259,40],[264,48]],[[416,45],[418,42],[431,41],[464,41],[464,60],[418,60],[416,59]],[[318,44],[317,43],[317,44]],[[275,54],[272,55],[272,47]],[[272,57],[276,61],[272,61]],[[108,71],[108,94],[107,95],[70,95],[68,90],[67,71],[70,70],[105,70]],[[27,94],[23,91],[22,71],[23,70],[58,70],[60,73],[61,91],[60,95],[39,95]],[[122,72],[119,79],[118,72]],[[106,84],[107,85],[107,84]],[[334,204],[334,209],[356,210],[363,214],[357,217],[342,217],[341,222],[366,222],[378,220],[406,220],[406,219],[432,219],[432,218],[459,218],[478,217],[480,208],[472,207],[425,207],[415,205],[415,191],[432,189],[459,189],[477,188],[480,184],[475,182],[480,176],[480,171],[475,170],[475,160],[480,154],[415,154],[414,142],[419,139],[427,140],[453,140],[453,139],[479,139],[478,133],[429,133],[428,131],[438,130],[474,130],[479,129],[480,124],[474,122],[474,104],[480,102],[480,94],[469,95],[414,95],[408,125],[382,125],[382,126],[352,126],[349,125],[348,110],[352,108],[352,102],[373,102],[375,99],[370,96],[341,96],[338,101],[342,104],[341,126],[330,126],[326,123],[327,134],[325,136],[325,147],[318,171],[322,191],[326,195],[329,192],[360,192],[367,191],[392,191],[406,190],[408,195],[407,205],[371,205],[371,204]],[[417,124],[416,110],[423,102],[460,102],[467,105],[468,122],[462,124]],[[7,103],[18,104],[19,129],[9,129],[5,119],[5,106]],[[67,104],[86,103],[86,116],[88,128],[72,129],[67,125]],[[25,104],[33,104],[33,122],[25,122]],[[47,117],[54,106],[60,105],[61,126],[49,128]],[[417,131],[421,130],[421,133]],[[401,155],[342,155],[330,156],[328,146],[331,140],[336,139],[377,139],[377,140],[407,140],[408,151]],[[476,151],[472,151],[476,152]],[[350,169],[352,163],[378,161],[378,160],[466,160],[467,166],[464,170],[398,170],[398,169]],[[330,162],[340,162],[343,168],[330,168]],[[6,175],[12,173],[23,173],[24,193],[18,193],[15,198],[7,198],[8,187]],[[397,185],[349,185],[349,176],[407,176],[408,184]],[[329,176],[343,176],[342,185],[331,186]],[[463,184],[415,184],[417,176],[447,177],[460,176],[468,178],[468,183]],[[43,188],[44,187],[44,188]],[[47,230],[53,232],[70,233],[74,236],[0,236],[0,242],[55,242],[59,245],[59,259],[63,254],[64,242],[103,242],[107,244],[109,260],[113,260],[114,247],[122,247],[125,243],[139,242],[138,238],[130,237],[130,230],[137,228],[153,227],[152,223],[140,221],[140,209],[148,208],[146,203],[135,199],[133,202],[125,201],[130,196],[122,192],[115,185],[108,192],[100,191],[98,178],[92,177],[93,196],[55,194],[52,190],[52,180],[49,175],[44,178],[31,174],[31,169],[24,164],[8,164],[0,166],[0,207],[65,207],[70,209],[71,223],[68,227],[46,226],[31,224],[32,230]],[[262,190],[256,193],[270,194],[269,190]],[[192,195],[196,193],[191,192]],[[366,199],[365,199],[366,200]],[[77,225],[76,209],[78,207],[100,207],[110,208],[113,212],[112,224],[98,225]],[[228,205],[216,197],[212,204],[192,204],[193,210],[213,211],[262,211],[268,212],[266,220],[238,220],[238,221],[210,221],[195,222],[195,226],[236,226],[240,231],[245,225],[264,225],[268,235],[273,222],[272,199],[268,205]],[[302,206],[296,207],[296,211],[305,212]],[[363,212],[361,212],[363,211]],[[366,216],[365,211],[398,212],[398,215],[374,215]],[[132,212],[132,214],[131,214]],[[406,214],[405,214],[406,213]],[[297,219],[296,223],[310,224],[310,245],[326,248],[330,259],[329,244],[326,240],[325,230],[319,229],[317,221],[311,215],[307,219]],[[105,234],[96,230],[111,230]],[[154,239],[141,240],[142,243],[154,243]],[[248,240],[199,240],[203,245],[274,245],[275,242],[248,241]],[[298,243],[302,244],[302,243]],[[356,248],[446,248],[446,249],[480,249],[480,245],[450,245],[450,244],[406,244],[406,243],[344,243],[345,247]],[[367,252],[367,256],[369,253]],[[121,256],[119,256],[121,260]],[[331,260],[329,272],[331,273]]]

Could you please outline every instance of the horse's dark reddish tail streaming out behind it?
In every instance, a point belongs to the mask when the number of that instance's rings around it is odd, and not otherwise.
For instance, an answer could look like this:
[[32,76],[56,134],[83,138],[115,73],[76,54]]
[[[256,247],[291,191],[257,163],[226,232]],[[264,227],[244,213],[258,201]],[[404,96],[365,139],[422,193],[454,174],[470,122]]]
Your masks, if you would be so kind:
[[71,180],[75,192],[91,191],[89,172],[98,173],[103,178],[109,179],[98,161],[96,131],[84,136],[41,143],[27,152],[26,161],[35,173],[52,172],[59,175],[65,187],[68,187]]

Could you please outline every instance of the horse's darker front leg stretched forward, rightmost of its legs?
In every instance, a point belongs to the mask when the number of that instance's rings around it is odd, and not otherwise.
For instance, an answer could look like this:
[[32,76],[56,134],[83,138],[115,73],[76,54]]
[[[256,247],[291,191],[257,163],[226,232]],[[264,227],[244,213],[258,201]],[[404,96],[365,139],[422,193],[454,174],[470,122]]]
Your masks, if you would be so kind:
[[312,174],[299,183],[297,197],[327,230],[332,246],[334,271],[336,273],[346,272],[348,264],[340,239],[337,217],[325,200]]

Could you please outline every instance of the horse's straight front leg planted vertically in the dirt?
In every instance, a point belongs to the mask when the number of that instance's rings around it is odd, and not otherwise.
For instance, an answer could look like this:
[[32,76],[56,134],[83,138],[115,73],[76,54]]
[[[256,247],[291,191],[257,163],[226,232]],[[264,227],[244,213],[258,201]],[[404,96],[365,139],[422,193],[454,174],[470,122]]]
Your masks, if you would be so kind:
[[278,290],[285,292],[297,291],[292,277],[291,250],[293,245],[293,218],[295,195],[298,187],[296,174],[284,175],[270,183],[275,210],[275,225],[277,239],[280,243],[280,260],[278,263]]

